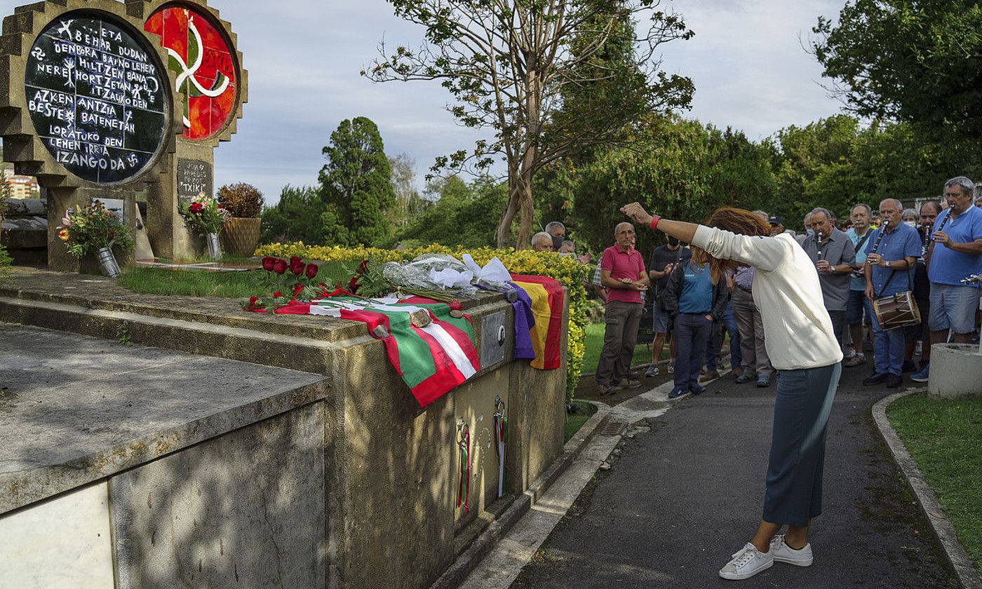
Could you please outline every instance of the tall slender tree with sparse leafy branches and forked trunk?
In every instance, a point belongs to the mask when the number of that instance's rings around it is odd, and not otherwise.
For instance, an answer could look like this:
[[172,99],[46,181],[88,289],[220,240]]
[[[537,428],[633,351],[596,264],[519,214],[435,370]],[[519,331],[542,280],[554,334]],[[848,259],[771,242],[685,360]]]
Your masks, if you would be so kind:
[[[488,166],[504,156],[509,198],[496,241],[518,246],[532,233],[535,174],[586,145],[604,145],[651,112],[686,106],[691,80],[660,70],[658,47],[688,38],[677,15],[654,0],[390,0],[396,16],[425,27],[418,50],[387,51],[363,75],[371,80],[441,80],[465,126],[493,131],[472,152],[435,169]],[[648,22],[635,27],[635,21]],[[622,59],[613,59],[617,53]],[[595,85],[594,85],[595,84]],[[571,88],[593,86],[595,91]],[[570,108],[564,108],[571,101]]]

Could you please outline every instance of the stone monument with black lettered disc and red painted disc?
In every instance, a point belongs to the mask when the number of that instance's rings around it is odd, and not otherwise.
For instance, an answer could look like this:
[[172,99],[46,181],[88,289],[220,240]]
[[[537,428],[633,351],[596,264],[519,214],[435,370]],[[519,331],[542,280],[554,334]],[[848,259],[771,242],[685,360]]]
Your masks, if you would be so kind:
[[204,0],[47,0],[4,19],[3,155],[47,195],[49,269],[80,269],[56,231],[70,206],[120,199],[133,227],[144,190],[155,254],[194,255],[178,199],[212,190],[213,149],[246,101],[241,63]]

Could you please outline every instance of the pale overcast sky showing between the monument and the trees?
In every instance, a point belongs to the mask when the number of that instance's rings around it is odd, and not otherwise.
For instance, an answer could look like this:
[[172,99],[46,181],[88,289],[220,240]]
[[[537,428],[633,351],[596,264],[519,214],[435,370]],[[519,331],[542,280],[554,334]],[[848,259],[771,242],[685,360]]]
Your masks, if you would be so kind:
[[[20,3],[20,2],[19,2]],[[810,28],[842,0],[677,0],[695,37],[663,46],[663,68],[689,76],[684,116],[732,126],[752,140],[835,114],[808,55]],[[321,148],[344,119],[374,121],[386,153],[409,154],[422,177],[438,155],[467,148],[478,132],[458,127],[438,82],[372,83],[359,71],[388,44],[417,45],[421,29],[383,0],[210,0],[232,23],[244,53],[249,101],[239,133],[215,152],[215,186],[247,182],[267,202],[284,185],[312,185]],[[9,12],[9,11],[8,11]],[[421,180],[419,184],[421,185]]]

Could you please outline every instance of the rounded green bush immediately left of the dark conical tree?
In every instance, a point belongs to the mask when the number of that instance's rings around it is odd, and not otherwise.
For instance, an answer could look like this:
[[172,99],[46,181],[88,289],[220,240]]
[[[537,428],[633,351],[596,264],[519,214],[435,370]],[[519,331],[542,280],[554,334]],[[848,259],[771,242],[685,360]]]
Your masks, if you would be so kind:
[[326,205],[320,192],[311,187],[287,185],[280,192],[280,201],[262,209],[263,243],[303,241],[323,244],[324,232],[321,215]]

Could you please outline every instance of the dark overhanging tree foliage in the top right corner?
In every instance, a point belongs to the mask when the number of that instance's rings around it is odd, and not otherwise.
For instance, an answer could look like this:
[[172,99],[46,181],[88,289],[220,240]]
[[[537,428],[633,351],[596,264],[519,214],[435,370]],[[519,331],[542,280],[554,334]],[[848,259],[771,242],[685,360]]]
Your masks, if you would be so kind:
[[982,134],[982,7],[960,0],[852,0],[819,18],[812,50],[860,117],[921,133]]

